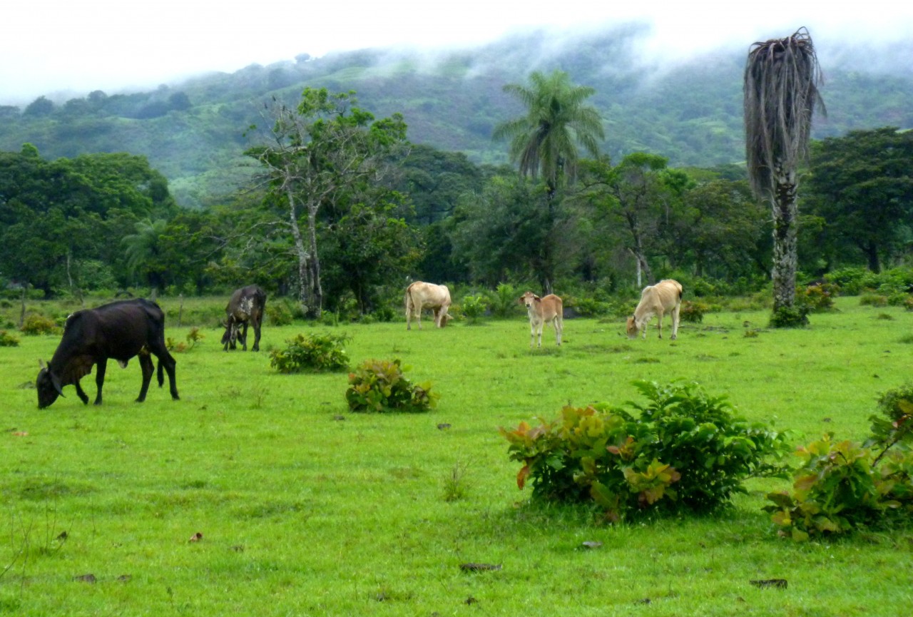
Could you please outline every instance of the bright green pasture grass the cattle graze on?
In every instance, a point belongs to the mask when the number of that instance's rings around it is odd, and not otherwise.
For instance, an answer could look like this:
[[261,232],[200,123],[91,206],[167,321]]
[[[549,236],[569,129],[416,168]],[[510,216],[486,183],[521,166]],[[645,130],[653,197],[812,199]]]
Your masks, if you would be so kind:
[[[166,335],[184,340],[192,324],[163,306]],[[498,434],[567,403],[637,400],[635,379],[681,378],[795,444],[862,439],[878,395],[913,378],[913,313],[837,307],[809,329],[711,313],[676,341],[652,324],[627,340],[620,319],[569,319],[561,348],[547,329],[541,350],[522,318],[268,324],[259,353],[224,352],[204,324],[175,354],[181,401],[153,385],[133,403],[131,361],[110,363],[102,406],[68,387],[45,410],[37,360],[59,336],[20,336],[0,348],[0,614],[906,615],[910,529],[777,538],[761,512],[788,486],[776,479],[713,517],[603,525],[585,507],[530,504]],[[352,366],[401,359],[441,393],[436,410],[349,413],[345,373],[269,368],[269,350],[317,331],[350,335]],[[788,587],[750,582],[770,579]]]

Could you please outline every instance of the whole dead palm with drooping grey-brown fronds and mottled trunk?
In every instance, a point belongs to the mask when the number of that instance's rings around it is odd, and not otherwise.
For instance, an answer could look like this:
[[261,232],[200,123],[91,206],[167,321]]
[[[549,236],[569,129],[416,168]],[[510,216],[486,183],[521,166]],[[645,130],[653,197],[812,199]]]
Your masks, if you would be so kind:
[[[774,325],[798,325],[797,167],[808,156],[814,109],[824,111],[821,71],[808,30],[751,45],[745,65],[745,152],[751,190],[773,210]],[[791,317],[792,316],[792,317]]]

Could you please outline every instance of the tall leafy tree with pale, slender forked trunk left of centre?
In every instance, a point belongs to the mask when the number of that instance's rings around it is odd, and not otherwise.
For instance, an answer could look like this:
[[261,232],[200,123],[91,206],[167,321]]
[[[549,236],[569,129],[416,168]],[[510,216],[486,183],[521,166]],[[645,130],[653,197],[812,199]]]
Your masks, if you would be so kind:
[[[346,205],[374,199],[367,195],[379,185],[384,157],[405,143],[406,125],[398,113],[374,120],[358,107],[354,92],[331,94],[325,88],[304,89],[296,108],[274,99],[268,116],[270,142],[247,154],[265,168],[268,203],[285,208],[298,256],[301,306],[310,317],[320,318],[318,214],[322,210],[338,219]],[[299,225],[301,210],[307,235]]]

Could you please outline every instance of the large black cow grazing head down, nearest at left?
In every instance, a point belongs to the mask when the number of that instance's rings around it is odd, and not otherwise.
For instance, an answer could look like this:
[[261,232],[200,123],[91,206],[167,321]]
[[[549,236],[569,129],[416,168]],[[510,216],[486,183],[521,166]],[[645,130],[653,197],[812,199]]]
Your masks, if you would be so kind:
[[176,362],[165,348],[165,316],[159,305],[136,298],[78,310],[67,318],[63,339],[47,367],[39,361],[41,371],[35,382],[38,407],[43,409],[57,401],[58,396],[63,396],[63,387],[70,384],[76,386],[82,403],[89,404],[89,397],[82,391],[79,380],[92,371],[93,364],[99,365],[95,374],[98,386],[95,404],[100,405],[108,359],[113,358],[124,368],[133,356],[140,357],[142,388],[136,401],[142,403],[154,372],[151,353],[159,359],[159,387],[164,382],[164,367],[168,371],[172,398],[176,401],[179,398],[174,382]]

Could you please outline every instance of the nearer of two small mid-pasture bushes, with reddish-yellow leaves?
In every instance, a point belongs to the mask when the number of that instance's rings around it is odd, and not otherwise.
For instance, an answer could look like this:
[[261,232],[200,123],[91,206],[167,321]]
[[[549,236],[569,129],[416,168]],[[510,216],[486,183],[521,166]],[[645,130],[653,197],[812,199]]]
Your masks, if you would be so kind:
[[431,382],[413,384],[399,360],[369,360],[349,374],[346,402],[353,412],[419,413],[433,409],[440,395]]

